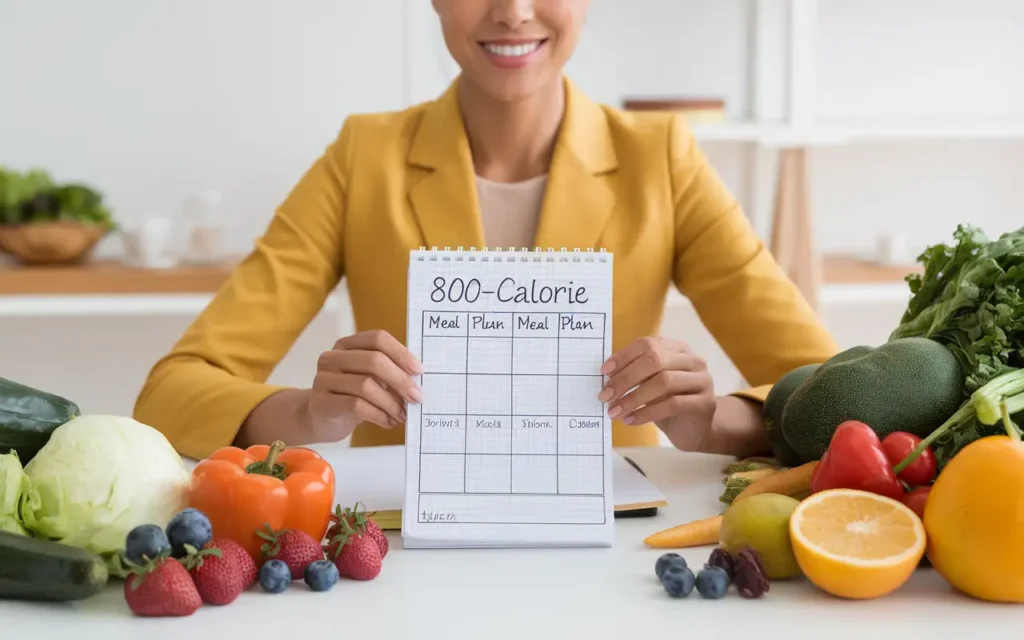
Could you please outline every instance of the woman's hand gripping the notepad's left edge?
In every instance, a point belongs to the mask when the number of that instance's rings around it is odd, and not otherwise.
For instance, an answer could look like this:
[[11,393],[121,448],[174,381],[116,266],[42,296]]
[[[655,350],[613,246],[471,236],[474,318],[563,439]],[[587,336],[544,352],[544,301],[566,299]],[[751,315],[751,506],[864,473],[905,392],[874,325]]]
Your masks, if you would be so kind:
[[406,404],[423,390],[414,376],[423,367],[386,331],[342,338],[321,354],[309,392],[309,417],[318,440],[348,437],[360,422],[391,428],[406,422]]

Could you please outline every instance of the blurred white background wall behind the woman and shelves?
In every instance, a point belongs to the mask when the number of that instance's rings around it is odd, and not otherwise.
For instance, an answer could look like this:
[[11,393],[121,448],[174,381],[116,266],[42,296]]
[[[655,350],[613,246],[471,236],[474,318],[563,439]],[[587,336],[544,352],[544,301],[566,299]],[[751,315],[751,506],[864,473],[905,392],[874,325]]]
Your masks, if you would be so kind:
[[[602,101],[721,94],[730,116],[749,117],[755,1],[777,0],[594,0],[569,72]],[[821,0],[820,18],[822,116],[1024,120],[1019,0]],[[435,30],[428,0],[0,0],[0,164],[88,180],[124,220],[174,215],[189,194],[217,188],[231,248],[245,251],[346,114],[443,88],[454,70]],[[740,190],[740,147],[706,148]],[[812,158],[815,230],[829,251],[868,251],[884,232],[916,251],[959,222],[992,233],[1020,224],[1024,142],[865,143]],[[100,253],[118,250],[111,239]],[[844,344],[869,343],[899,312],[824,317]],[[0,316],[0,375],[127,413],[187,322]],[[667,322],[711,354],[723,387],[736,384],[694,318]],[[274,380],[307,384],[338,331],[317,318]]]

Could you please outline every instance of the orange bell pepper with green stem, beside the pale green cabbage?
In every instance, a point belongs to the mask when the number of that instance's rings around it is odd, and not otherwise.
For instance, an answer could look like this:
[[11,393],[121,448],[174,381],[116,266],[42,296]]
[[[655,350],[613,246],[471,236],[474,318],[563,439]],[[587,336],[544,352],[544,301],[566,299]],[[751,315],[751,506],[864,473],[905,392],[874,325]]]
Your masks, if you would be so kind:
[[324,540],[334,482],[330,463],[310,449],[223,446],[193,470],[188,504],[210,518],[214,537],[233,540],[258,562],[266,541],[257,531],[267,525]]

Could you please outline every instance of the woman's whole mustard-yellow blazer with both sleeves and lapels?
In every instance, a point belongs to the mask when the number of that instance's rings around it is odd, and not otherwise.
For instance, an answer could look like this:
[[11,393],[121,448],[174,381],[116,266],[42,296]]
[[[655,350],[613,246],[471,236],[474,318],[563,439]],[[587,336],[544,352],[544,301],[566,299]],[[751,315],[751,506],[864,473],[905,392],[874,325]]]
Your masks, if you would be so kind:
[[[433,101],[345,120],[253,251],[155,365],[137,420],[185,456],[231,443],[280,389],[267,377],[342,278],[357,331],[404,341],[410,250],[484,246],[457,83]],[[614,253],[613,349],[658,332],[675,285],[753,385],[742,395],[763,399],[784,373],[836,352],[682,117],[617,111],[565,86],[534,245]],[[364,424],[351,444],[403,440],[403,429]],[[612,440],[654,444],[656,427],[615,421]]]

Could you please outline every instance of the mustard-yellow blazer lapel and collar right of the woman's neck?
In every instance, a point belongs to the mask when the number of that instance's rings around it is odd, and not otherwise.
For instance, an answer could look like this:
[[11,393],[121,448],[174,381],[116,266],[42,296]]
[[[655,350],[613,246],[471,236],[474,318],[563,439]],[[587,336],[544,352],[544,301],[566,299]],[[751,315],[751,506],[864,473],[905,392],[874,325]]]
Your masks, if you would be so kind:
[[599,249],[615,204],[608,174],[616,167],[604,111],[566,80],[565,116],[534,244],[556,251]]

